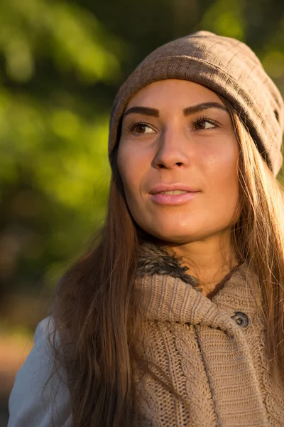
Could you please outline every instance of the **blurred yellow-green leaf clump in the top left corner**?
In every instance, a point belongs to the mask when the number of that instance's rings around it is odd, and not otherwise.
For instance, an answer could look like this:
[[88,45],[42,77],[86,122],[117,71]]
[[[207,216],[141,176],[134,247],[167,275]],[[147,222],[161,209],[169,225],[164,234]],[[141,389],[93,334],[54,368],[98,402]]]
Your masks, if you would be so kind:
[[53,60],[59,72],[74,69],[87,82],[119,77],[119,42],[92,14],[64,1],[2,0],[0,48],[6,73],[26,82],[35,74],[38,57]]

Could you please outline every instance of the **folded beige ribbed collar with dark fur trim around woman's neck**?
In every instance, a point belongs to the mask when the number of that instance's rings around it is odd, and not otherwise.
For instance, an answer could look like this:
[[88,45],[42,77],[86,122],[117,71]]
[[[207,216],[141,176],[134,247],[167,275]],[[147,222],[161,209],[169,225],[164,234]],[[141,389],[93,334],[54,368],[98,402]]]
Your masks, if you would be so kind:
[[257,315],[255,292],[259,288],[249,263],[239,265],[224,287],[209,300],[198,289],[196,278],[181,267],[178,258],[152,244],[141,249],[136,292],[139,292],[141,315],[148,320],[227,329],[234,312],[246,312],[250,318]]

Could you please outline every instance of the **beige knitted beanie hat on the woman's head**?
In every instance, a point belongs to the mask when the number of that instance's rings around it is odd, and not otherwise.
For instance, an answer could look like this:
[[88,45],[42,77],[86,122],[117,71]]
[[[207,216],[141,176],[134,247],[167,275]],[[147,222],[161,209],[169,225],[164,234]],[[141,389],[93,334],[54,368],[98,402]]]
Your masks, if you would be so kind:
[[109,156],[119,142],[121,117],[131,97],[144,86],[166,79],[200,83],[228,100],[273,174],[278,174],[282,165],[283,98],[249,46],[209,31],[160,46],[133,71],[112,107]]

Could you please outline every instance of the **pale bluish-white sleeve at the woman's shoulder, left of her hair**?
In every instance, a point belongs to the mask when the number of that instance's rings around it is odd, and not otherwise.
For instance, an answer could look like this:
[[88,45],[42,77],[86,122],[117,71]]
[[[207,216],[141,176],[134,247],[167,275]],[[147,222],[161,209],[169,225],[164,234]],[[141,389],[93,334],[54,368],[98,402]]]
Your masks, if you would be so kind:
[[[52,317],[43,319],[35,330],[34,344],[26,362],[16,375],[9,398],[8,427],[70,427],[71,407],[65,370],[53,373],[54,357],[50,334]],[[60,337],[55,336],[60,344]],[[48,381],[49,379],[49,381]]]

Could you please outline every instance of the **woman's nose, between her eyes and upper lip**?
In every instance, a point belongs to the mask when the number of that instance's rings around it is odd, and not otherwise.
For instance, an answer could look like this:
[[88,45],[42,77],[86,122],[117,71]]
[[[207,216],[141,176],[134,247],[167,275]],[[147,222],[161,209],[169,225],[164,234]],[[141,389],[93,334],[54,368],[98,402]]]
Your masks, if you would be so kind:
[[153,159],[156,169],[187,167],[190,164],[190,145],[185,132],[177,127],[167,129],[160,136],[158,149]]

